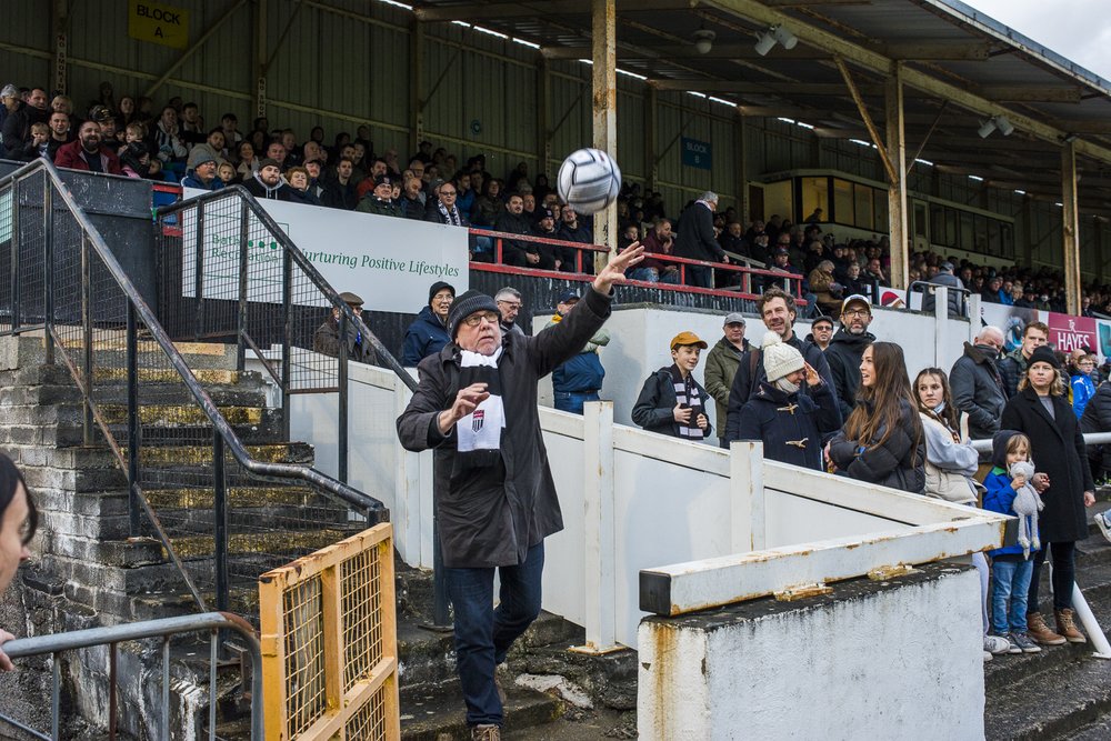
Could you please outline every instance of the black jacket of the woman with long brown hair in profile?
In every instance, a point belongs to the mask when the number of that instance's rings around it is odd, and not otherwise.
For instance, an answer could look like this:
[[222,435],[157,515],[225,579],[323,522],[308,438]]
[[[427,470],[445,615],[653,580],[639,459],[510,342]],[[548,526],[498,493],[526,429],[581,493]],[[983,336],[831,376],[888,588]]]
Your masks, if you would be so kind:
[[[922,425],[918,410],[905,402],[901,405],[899,429],[882,445],[858,453],[861,443],[847,440],[844,431],[841,431],[830,442],[830,458],[853,479],[921,494],[925,491],[925,435],[919,433],[914,439],[911,431]],[[877,438],[882,438],[883,433],[880,428]]]

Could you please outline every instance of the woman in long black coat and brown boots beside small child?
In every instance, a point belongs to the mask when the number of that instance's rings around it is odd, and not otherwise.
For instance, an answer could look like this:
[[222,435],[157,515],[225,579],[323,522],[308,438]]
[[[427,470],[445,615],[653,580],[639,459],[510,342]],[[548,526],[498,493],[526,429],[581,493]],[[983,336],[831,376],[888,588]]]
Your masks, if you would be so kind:
[[[1060,364],[1047,347],[1034,350],[1019,393],[1007,402],[1000,429],[1017,430],[1030,438],[1031,455],[1038,471],[1049,477],[1042,491],[1045,509],[1039,518],[1042,548],[1034,558],[1027,601],[1027,629],[1039,643],[1059,645],[1065,640],[1083,643],[1085,638],[1072,620],[1072,587],[1075,578],[1075,544],[1088,538],[1085,507],[1095,503],[1095,485],[1088,467],[1084,438],[1072,405],[1064,398]],[[1045,552],[1053,559],[1053,614],[1057,633],[1038,611],[1038,577]]]

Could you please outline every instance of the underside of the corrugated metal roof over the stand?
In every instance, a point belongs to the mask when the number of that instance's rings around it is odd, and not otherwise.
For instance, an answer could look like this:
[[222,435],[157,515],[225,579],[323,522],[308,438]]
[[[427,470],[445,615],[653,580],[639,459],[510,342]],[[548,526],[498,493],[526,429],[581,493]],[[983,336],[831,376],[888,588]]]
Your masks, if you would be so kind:
[[[705,91],[747,107],[745,113],[803,121],[817,127],[819,136],[867,140],[858,108],[831,54],[801,42],[793,50],[777,46],[765,57],[757,54],[753,46],[767,23],[724,9],[738,6],[744,3],[618,0],[618,67],[673,86],[667,89]],[[428,0],[421,9],[440,20],[454,12],[463,20],[540,43],[558,59],[590,57],[590,2],[584,0]],[[904,64],[917,72],[1111,151],[1111,82],[959,0],[774,0],[764,2],[763,9],[884,57],[905,57]],[[693,49],[694,33],[700,30],[714,34],[709,54]],[[924,52],[925,48],[934,51]],[[850,67],[882,130],[883,74]],[[977,129],[983,116],[910,86],[904,87],[904,98],[908,149],[915,152],[922,146],[920,157],[925,160],[958,170],[967,167],[979,176],[998,172],[1013,180],[1037,177],[1044,181],[1060,169],[1060,141],[1021,129],[1007,138],[997,132],[981,139]],[[1080,167],[1085,170],[1085,198],[1098,194],[1111,208],[1111,180],[1105,191],[1102,182],[1104,168],[1111,174],[1111,158],[1102,162],[1082,159]],[[1015,177],[1015,172],[1025,174]]]

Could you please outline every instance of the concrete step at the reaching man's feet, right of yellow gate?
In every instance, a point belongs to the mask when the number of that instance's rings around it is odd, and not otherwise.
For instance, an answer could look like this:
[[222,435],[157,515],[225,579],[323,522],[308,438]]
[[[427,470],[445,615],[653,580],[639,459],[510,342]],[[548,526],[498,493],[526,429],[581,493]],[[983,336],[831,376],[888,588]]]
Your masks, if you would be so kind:
[[[536,690],[508,685],[503,738],[512,739],[524,729],[551,723],[562,712],[561,703]],[[402,741],[464,741],[467,709],[459,681],[401,688]]]

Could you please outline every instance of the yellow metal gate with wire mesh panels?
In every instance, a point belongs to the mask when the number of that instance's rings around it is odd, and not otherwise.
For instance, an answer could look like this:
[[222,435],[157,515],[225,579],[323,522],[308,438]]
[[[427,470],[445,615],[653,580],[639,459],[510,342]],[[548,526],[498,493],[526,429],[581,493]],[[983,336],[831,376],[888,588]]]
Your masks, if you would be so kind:
[[400,738],[389,523],[259,580],[267,739]]

